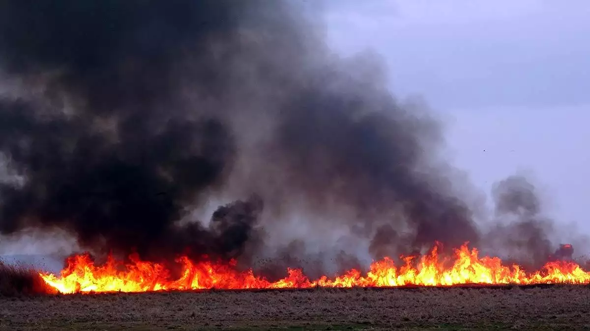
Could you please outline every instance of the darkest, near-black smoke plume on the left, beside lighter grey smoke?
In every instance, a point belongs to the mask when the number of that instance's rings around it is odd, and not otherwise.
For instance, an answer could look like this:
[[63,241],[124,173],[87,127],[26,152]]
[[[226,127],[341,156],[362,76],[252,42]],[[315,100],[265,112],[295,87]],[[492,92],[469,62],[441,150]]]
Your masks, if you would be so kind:
[[174,226],[185,206],[221,186],[237,153],[224,119],[179,104],[175,77],[188,52],[197,66],[190,79],[209,98],[223,98],[229,84],[223,61],[212,64],[205,49],[238,28],[242,7],[3,1],[5,71],[31,80],[55,74],[42,100],[0,102],[1,150],[27,177],[22,187],[0,188],[0,230],[64,227],[83,247],[147,257],[239,250],[255,218],[242,214],[254,213],[258,204],[235,203],[239,211],[214,216],[216,229]]

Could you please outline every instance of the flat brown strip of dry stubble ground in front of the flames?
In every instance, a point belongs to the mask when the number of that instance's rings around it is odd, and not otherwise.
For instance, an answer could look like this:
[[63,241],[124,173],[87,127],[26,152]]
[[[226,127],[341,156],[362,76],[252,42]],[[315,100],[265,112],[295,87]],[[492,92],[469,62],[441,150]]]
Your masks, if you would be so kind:
[[590,287],[0,298],[0,330],[590,329]]

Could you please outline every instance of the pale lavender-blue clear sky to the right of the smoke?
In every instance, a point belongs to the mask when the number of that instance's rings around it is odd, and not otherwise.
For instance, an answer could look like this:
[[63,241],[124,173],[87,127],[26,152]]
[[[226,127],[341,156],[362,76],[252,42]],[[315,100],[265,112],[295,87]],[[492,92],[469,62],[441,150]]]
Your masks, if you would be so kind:
[[450,158],[477,187],[489,193],[526,174],[550,216],[590,233],[590,1],[328,0],[325,9],[337,52],[379,54],[396,97],[418,96],[444,118]]

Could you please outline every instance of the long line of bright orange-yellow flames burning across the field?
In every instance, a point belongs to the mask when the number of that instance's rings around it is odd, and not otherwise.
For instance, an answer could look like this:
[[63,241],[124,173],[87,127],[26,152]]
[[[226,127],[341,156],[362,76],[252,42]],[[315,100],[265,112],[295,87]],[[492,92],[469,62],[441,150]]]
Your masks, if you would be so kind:
[[41,273],[45,282],[61,293],[77,292],[148,292],[159,290],[196,289],[285,289],[306,287],[391,287],[391,286],[453,286],[458,284],[551,284],[590,283],[590,272],[575,262],[548,262],[542,270],[526,273],[519,266],[505,266],[498,257],[479,257],[477,249],[464,244],[454,250],[454,256],[441,257],[438,246],[424,256],[402,257],[404,263],[395,266],[385,258],[371,264],[363,275],[349,270],[336,277],[322,276],[311,280],[302,270],[287,269],[287,276],[276,282],[255,276],[252,270],[239,272],[236,262],[193,262],[179,257],[181,277],[171,280],[171,272],[163,264],[145,262],[130,256],[123,264],[109,257],[101,266],[94,264],[89,254],[71,256],[60,276]]

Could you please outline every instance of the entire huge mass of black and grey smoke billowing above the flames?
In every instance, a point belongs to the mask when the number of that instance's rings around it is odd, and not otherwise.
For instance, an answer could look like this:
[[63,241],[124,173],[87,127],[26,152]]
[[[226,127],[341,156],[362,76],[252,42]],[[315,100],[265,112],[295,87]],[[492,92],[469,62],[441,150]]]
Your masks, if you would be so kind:
[[[143,259],[306,255],[292,243],[338,231],[372,257],[477,244],[438,121],[392,97],[378,59],[333,55],[315,14],[255,0],[2,1],[0,64],[21,88],[0,100],[0,151],[25,179],[0,184],[0,232],[59,228],[83,249]],[[542,238],[537,201],[499,194],[499,212]],[[237,201],[192,217],[215,199]]]

